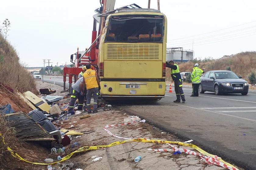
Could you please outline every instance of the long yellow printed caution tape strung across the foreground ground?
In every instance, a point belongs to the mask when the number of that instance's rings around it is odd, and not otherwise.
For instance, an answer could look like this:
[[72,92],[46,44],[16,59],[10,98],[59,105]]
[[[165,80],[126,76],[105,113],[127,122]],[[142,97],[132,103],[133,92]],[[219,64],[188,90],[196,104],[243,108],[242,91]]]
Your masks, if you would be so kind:
[[[0,136],[2,136],[2,134],[0,133]],[[4,143],[4,137],[2,137],[2,142]],[[206,155],[206,156],[212,156],[214,157],[215,155],[212,155],[212,154],[209,154],[208,152],[204,151],[203,149],[199,148],[198,146],[194,145],[194,144],[187,144],[187,143],[183,143],[183,142],[178,142],[178,141],[163,141],[163,140],[146,140],[144,138],[136,138],[136,139],[130,139],[130,140],[126,140],[126,141],[116,141],[116,142],[113,142],[111,144],[108,144],[108,145],[100,145],[100,146],[83,146],[79,149],[77,149],[76,151],[73,151],[72,153],[70,153],[69,155],[66,155],[64,158],[62,158],[60,161],[56,161],[56,162],[52,162],[52,163],[37,163],[37,162],[30,162],[30,161],[27,161],[25,159],[23,159],[20,155],[18,155],[15,151],[13,151],[11,148],[7,147],[7,150],[11,152],[12,156],[15,157],[15,158],[18,158],[22,161],[25,161],[25,162],[28,162],[28,163],[31,163],[31,164],[36,164],[36,165],[52,165],[52,164],[56,164],[58,162],[62,162],[62,161],[66,161],[68,160],[69,158],[72,157],[72,155],[74,155],[75,153],[78,153],[78,152],[83,152],[83,151],[88,151],[88,150],[96,150],[96,149],[102,149],[102,148],[108,148],[108,147],[111,147],[111,146],[116,146],[116,145],[119,145],[119,144],[124,144],[124,143],[127,143],[127,142],[149,142],[149,143],[163,143],[163,144],[166,144],[166,143],[169,143],[169,144],[177,144],[177,145],[182,145],[182,146],[188,146],[190,148],[194,148],[195,150],[199,151],[201,154],[203,155]],[[223,163],[225,163],[226,165],[228,166],[231,166],[231,167],[234,167],[233,165],[223,161],[222,159],[219,158],[220,161],[222,161]],[[235,168],[235,167],[234,167]]]

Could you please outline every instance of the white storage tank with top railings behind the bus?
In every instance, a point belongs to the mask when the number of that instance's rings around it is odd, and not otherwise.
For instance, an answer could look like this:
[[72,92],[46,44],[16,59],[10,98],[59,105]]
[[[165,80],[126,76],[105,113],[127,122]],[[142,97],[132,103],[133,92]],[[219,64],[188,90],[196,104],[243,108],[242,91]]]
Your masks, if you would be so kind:
[[166,48],[166,61],[187,62],[193,60],[193,50],[178,48]]

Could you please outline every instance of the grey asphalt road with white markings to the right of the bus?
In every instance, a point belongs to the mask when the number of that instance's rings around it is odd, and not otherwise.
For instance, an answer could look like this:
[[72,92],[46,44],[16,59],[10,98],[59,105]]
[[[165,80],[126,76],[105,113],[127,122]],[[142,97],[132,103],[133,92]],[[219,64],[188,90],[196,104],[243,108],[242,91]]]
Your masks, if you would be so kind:
[[183,90],[185,104],[173,103],[175,93],[166,92],[155,104],[129,103],[124,109],[184,140],[193,139],[194,144],[237,166],[256,169],[256,94],[205,92],[190,97],[192,89]]

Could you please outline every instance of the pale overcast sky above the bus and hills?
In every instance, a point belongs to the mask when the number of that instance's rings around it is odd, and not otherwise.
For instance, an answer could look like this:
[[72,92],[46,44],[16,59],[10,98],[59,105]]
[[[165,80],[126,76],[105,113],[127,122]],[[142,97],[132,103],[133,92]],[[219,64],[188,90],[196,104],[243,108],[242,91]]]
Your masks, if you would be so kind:
[[[116,0],[115,9],[148,0]],[[91,45],[93,15],[99,0],[0,0],[0,24],[11,22],[7,39],[27,67],[70,63],[76,48]],[[157,0],[151,0],[157,9]],[[255,51],[256,1],[254,0],[160,0],[167,17],[167,47],[194,50],[195,58]],[[51,64],[50,64],[51,65]]]

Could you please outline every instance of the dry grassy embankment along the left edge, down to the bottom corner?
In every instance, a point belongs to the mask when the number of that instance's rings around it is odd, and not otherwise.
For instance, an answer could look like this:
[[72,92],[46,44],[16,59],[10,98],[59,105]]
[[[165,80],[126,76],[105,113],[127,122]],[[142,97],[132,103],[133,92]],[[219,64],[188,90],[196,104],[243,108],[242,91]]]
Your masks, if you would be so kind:
[[[12,88],[13,92],[7,90],[9,88]],[[23,93],[28,90],[38,94],[34,79],[20,64],[16,50],[0,35],[0,106],[10,103],[14,109],[17,108],[15,111],[28,110],[27,104],[16,95],[17,92]],[[21,142],[17,140],[15,130],[9,127],[1,114],[0,133],[2,134],[0,136],[0,169],[31,169],[27,168],[24,162],[17,161],[7,151],[7,146],[16,151],[20,150]],[[5,144],[2,142],[2,137],[5,139]]]

